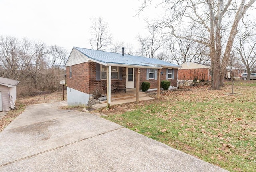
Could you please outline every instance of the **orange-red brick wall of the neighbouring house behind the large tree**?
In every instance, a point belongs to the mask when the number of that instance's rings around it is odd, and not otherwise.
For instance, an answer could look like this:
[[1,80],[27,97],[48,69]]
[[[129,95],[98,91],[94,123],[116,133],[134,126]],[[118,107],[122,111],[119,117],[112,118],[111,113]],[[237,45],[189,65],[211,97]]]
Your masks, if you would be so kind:
[[[198,80],[208,80],[208,75],[210,70],[208,68],[204,69],[179,69],[179,80],[194,80],[195,77]],[[209,81],[211,80],[211,76],[209,76]]]

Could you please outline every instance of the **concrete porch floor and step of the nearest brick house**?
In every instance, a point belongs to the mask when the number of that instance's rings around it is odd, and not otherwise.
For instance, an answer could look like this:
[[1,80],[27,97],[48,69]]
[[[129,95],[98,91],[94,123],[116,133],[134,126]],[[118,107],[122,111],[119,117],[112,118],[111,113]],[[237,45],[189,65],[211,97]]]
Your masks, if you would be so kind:
[[[151,100],[151,99],[154,99],[154,98],[149,97],[148,94],[140,91],[140,101]],[[136,102],[136,88],[126,89],[126,93],[121,91],[119,93],[111,94],[111,106],[116,104],[130,103],[130,102]],[[92,108],[94,109],[100,109],[105,107],[107,107],[107,103],[95,104],[92,106]]]

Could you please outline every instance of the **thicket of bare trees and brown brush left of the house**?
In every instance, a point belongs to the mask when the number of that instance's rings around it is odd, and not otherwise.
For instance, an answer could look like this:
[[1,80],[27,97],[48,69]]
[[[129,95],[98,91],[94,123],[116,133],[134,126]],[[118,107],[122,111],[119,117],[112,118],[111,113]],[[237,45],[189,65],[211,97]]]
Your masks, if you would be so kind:
[[0,36],[0,76],[21,81],[19,94],[58,90],[64,79],[64,68],[59,66],[65,58],[66,50],[56,45],[47,50],[42,41]]

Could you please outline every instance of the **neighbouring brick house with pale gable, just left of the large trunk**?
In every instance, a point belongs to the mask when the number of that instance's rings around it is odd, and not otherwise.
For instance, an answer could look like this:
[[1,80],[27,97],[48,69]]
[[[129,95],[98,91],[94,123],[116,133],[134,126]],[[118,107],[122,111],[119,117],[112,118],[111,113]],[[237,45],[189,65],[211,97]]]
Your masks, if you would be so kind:
[[211,76],[211,65],[201,64],[196,62],[185,62],[182,63],[181,68],[178,70],[178,80],[205,80],[210,81]]

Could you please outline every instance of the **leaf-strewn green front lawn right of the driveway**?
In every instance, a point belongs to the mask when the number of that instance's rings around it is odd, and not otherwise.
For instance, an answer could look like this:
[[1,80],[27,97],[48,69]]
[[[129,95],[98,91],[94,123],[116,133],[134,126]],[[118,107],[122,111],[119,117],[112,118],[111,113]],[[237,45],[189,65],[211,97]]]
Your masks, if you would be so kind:
[[256,82],[235,84],[234,95],[229,83],[169,91],[160,100],[112,106],[104,118],[226,170],[253,172]]

